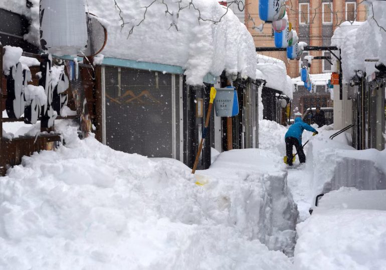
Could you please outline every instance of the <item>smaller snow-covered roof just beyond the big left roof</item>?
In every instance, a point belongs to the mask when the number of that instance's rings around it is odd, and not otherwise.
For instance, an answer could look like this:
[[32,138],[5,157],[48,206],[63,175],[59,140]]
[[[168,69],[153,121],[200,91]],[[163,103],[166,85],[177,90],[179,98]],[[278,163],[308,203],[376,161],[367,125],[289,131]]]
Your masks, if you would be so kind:
[[287,75],[285,63],[277,58],[257,54],[256,78],[267,81],[267,87],[282,91],[289,98],[292,98],[292,82]]

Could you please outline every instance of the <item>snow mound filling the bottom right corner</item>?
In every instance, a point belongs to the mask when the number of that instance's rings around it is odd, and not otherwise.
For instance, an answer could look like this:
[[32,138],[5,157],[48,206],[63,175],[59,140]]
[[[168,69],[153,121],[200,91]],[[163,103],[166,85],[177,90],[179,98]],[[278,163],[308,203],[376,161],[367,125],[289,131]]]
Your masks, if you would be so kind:
[[294,268],[385,269],[385,190],[341,188],[298,224]]

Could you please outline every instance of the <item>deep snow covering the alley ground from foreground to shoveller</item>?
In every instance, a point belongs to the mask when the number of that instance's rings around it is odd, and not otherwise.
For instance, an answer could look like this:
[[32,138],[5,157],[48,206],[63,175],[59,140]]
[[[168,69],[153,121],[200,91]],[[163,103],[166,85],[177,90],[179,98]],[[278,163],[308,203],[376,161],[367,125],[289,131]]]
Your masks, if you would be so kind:
[[308,213],[322,191],[310,151],[331,131],[311,138],[306,164],[287,168],[287,128],[260,128],[261,148],[223,152],[192,175],[174,159],[80,140],[77,126],[58,122],[66,146],[24,157],[0,181],[1,268],[384,269],[386,209],[374,204],[383,191],[333,191]]

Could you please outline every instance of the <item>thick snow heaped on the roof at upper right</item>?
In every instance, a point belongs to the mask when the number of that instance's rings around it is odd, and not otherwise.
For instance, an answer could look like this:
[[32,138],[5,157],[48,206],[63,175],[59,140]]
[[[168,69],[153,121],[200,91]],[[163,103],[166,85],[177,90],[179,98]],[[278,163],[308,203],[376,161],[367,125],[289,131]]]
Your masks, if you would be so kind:
[[354,70],[363,70],[368,75],[376,71],[375,62],[365,62],[367,58],[379,58],[379,62],[386,63],[386,2],[368,3],[373,14],[366,21],[342,22],[331,38],[331,44],[341,49],[345,82],[355,74]]

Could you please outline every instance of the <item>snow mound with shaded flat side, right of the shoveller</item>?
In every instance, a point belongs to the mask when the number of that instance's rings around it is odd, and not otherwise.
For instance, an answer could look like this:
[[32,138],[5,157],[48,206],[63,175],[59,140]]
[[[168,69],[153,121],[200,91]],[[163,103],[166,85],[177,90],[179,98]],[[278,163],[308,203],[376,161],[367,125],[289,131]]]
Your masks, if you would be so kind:
[[329,139],[333,132],[321,132],[309,143],[307,163],[313,167],[314,196],[341,186],[386,189],[386,150],[356,150],[347,145],[344,134]]

